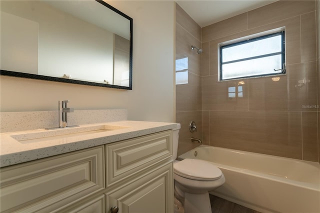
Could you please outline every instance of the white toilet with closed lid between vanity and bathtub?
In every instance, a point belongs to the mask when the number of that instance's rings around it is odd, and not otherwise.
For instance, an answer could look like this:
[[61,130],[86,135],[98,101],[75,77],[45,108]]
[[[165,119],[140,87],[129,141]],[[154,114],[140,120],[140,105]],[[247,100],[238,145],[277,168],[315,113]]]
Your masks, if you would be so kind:
[[[177,157],[180,124],[173,129],[173,178],[175,213],[211,213],[209,191],[221,186],[222,171],[208,161]],[[184,211],[183,211],[184,208]]]

